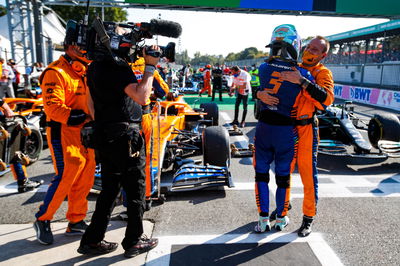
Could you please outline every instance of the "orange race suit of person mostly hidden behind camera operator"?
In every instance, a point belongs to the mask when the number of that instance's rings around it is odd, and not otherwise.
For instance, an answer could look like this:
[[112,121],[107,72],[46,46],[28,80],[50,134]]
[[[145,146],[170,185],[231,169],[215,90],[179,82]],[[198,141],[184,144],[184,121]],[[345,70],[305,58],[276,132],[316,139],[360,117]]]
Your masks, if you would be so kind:
[[[131,65],[132,71],[136,76],[138,82],[141,82],[143,78],[145,62],[144,58],[140,57]],[[154,71],[153,79],[153,91],[157,98],[164,97],[169,92],[168,84],[162,79],[160,73],[156,70]],[[152,151],[153,151],[153,127],[152,127],[152,116],[150,113],[150,99],[147,99],[146,105],[142,106],[143,116],[142,116],[142,130],[146,140],[146,198],[150,198],[153,194],[155,187],[154,179],[152,176]]]

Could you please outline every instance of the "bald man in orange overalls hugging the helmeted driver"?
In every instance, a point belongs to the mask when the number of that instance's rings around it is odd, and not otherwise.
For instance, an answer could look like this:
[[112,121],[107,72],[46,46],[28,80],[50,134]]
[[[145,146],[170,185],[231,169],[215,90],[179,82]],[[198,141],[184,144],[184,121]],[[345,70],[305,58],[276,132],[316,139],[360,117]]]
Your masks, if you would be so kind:
[[[297,71],[281,73],[281,79],[300,84],[306,88],[305,94],[314,100],[305,98],[299,103],[297,119],[308,119],[315,115],[316,108],[323,110],[334,101],[333,77],[331,71],[320,61],[327,56],[329,42],[324,37],[316,36],[306,46],[301,67],[310,71],[315,78],[315,83],[306,80]],[[279,100],[265,92],[257,95],[264,103],[277,105]],[[317,145],[318,127],[316,123],[297,126],[299,134],[297,166],[304,186],[303,222],[298,230],[298,235],[305,237],[311,233],[313,217],[317,213],[318,177],[317,177]],[[294,165],[293,165],[294,166]],[[294,167],[292,169],[292,172]],[[271,214],[272,216],[272,214]]]

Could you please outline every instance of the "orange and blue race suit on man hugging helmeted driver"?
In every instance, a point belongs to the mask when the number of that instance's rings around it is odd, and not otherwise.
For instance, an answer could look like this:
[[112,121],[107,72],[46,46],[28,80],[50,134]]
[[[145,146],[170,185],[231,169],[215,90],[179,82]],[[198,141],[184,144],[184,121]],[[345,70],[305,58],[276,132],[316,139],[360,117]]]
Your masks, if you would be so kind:
[[[323,64],[313,67],[300,65],[310,71],[315,79],[304,92],[297,108],[297,119],[309,119],[315,115],[316,108],[324,110],[334,101],[333,78],[331,71]],[[299,135],[297,168],[304,187],[303,214],[315,216],[318,202],[318,127],[315,123],[297,126]],[[292,172],[294,170],[294,165]]]

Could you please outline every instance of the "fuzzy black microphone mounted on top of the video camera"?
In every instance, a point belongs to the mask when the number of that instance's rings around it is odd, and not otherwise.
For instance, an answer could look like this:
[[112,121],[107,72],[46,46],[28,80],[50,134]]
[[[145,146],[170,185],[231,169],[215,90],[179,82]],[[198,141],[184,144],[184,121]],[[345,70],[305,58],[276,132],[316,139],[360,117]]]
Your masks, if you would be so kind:
[[179,23],[159,19],[152,19],[150,23],[140,23],[140,29],[148,31],[152,35],[162,35],[172,38],[178,38],[182,33],[182,27]]

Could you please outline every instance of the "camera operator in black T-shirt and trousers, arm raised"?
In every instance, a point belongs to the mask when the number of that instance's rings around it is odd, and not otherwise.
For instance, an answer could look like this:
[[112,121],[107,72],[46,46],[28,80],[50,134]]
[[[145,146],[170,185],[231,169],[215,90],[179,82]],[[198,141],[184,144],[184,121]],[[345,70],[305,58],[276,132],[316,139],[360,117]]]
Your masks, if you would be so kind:
[[[158,46],[152,50],[160,51]],[[105,254],[117,243],[104,240],[110,215],[121,186],[127,196],[128,223],[122,246],[125,257],[134,257],[158,244],[143,234],[145,194],[145,145],[140,133],[141,105],[146,104],[159,58],[146,54],[143,79],[137,82],[128,64],[116,64],[111,56],[94,61],[88,70],[88,85],[94,104],[95,136],[102,165],[102,191],[91,223],[78,252]]]

